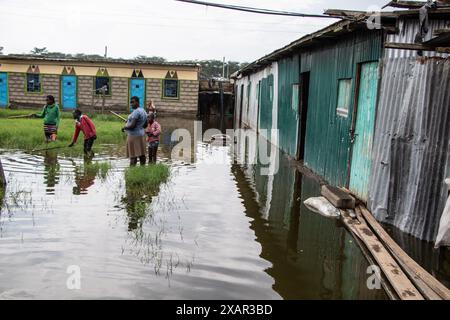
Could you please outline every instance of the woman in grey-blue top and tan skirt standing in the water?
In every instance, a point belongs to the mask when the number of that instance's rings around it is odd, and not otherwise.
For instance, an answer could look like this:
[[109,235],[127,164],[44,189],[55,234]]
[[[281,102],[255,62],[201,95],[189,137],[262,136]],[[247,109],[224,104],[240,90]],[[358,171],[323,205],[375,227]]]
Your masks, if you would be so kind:
[[147,127],[147,114],[144,109],[139,107],[139,98],[131,98],[131,108],[133,112],[128,116],[125,127],[122,132],[126,132],[127,137],[127,158],[130,159],[130,166],[134,167],[137,164],[137,159],[141,166],[145,165],[145,131]]

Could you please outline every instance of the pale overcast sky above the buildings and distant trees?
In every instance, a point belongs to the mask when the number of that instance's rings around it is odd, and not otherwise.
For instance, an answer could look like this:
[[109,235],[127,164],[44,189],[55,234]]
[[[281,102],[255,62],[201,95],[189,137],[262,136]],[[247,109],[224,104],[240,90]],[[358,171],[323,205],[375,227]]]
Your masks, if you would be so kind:
[[[387,0],[208,0],[302,13],[367,10]],[[251,62],[335,19],[258,15],[174,0],[0,0],[4,53],[64,53]]]

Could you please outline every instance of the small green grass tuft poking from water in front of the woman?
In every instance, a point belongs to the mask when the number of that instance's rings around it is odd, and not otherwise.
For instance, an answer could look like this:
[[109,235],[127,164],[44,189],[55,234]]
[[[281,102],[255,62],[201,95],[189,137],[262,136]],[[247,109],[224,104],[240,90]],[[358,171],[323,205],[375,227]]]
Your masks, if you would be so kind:
[[[157,190],[161,183],[167,182],[170,169],[163,163],[150,166],[131,167],[125,171],[127,189],[147,190],[150,193]],[[147,192],[145,192],[147,193]]]

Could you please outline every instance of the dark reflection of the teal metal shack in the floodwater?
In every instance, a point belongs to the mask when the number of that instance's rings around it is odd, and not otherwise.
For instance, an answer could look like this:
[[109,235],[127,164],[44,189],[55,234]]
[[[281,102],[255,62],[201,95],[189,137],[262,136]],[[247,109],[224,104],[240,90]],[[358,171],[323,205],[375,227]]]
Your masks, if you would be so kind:
[[369,264],[345,228],[302,204],[320,194],[316,181],[302,177],[282,155],[273,176],[261,175],[260,164],[232,170],[261,257],[272,263],[266,272],[283,298],[387,298],[383,290],[367,288]]

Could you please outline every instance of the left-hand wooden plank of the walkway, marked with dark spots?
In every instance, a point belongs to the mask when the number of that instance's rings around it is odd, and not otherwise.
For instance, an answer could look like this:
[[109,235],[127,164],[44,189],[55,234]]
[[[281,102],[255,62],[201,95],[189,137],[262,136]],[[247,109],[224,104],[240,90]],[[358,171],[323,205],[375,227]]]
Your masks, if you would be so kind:
[[358,234],[401,300],[424,300],[422,294],[367,225],[352,219],[346,212],[342,214],[342,221]]

